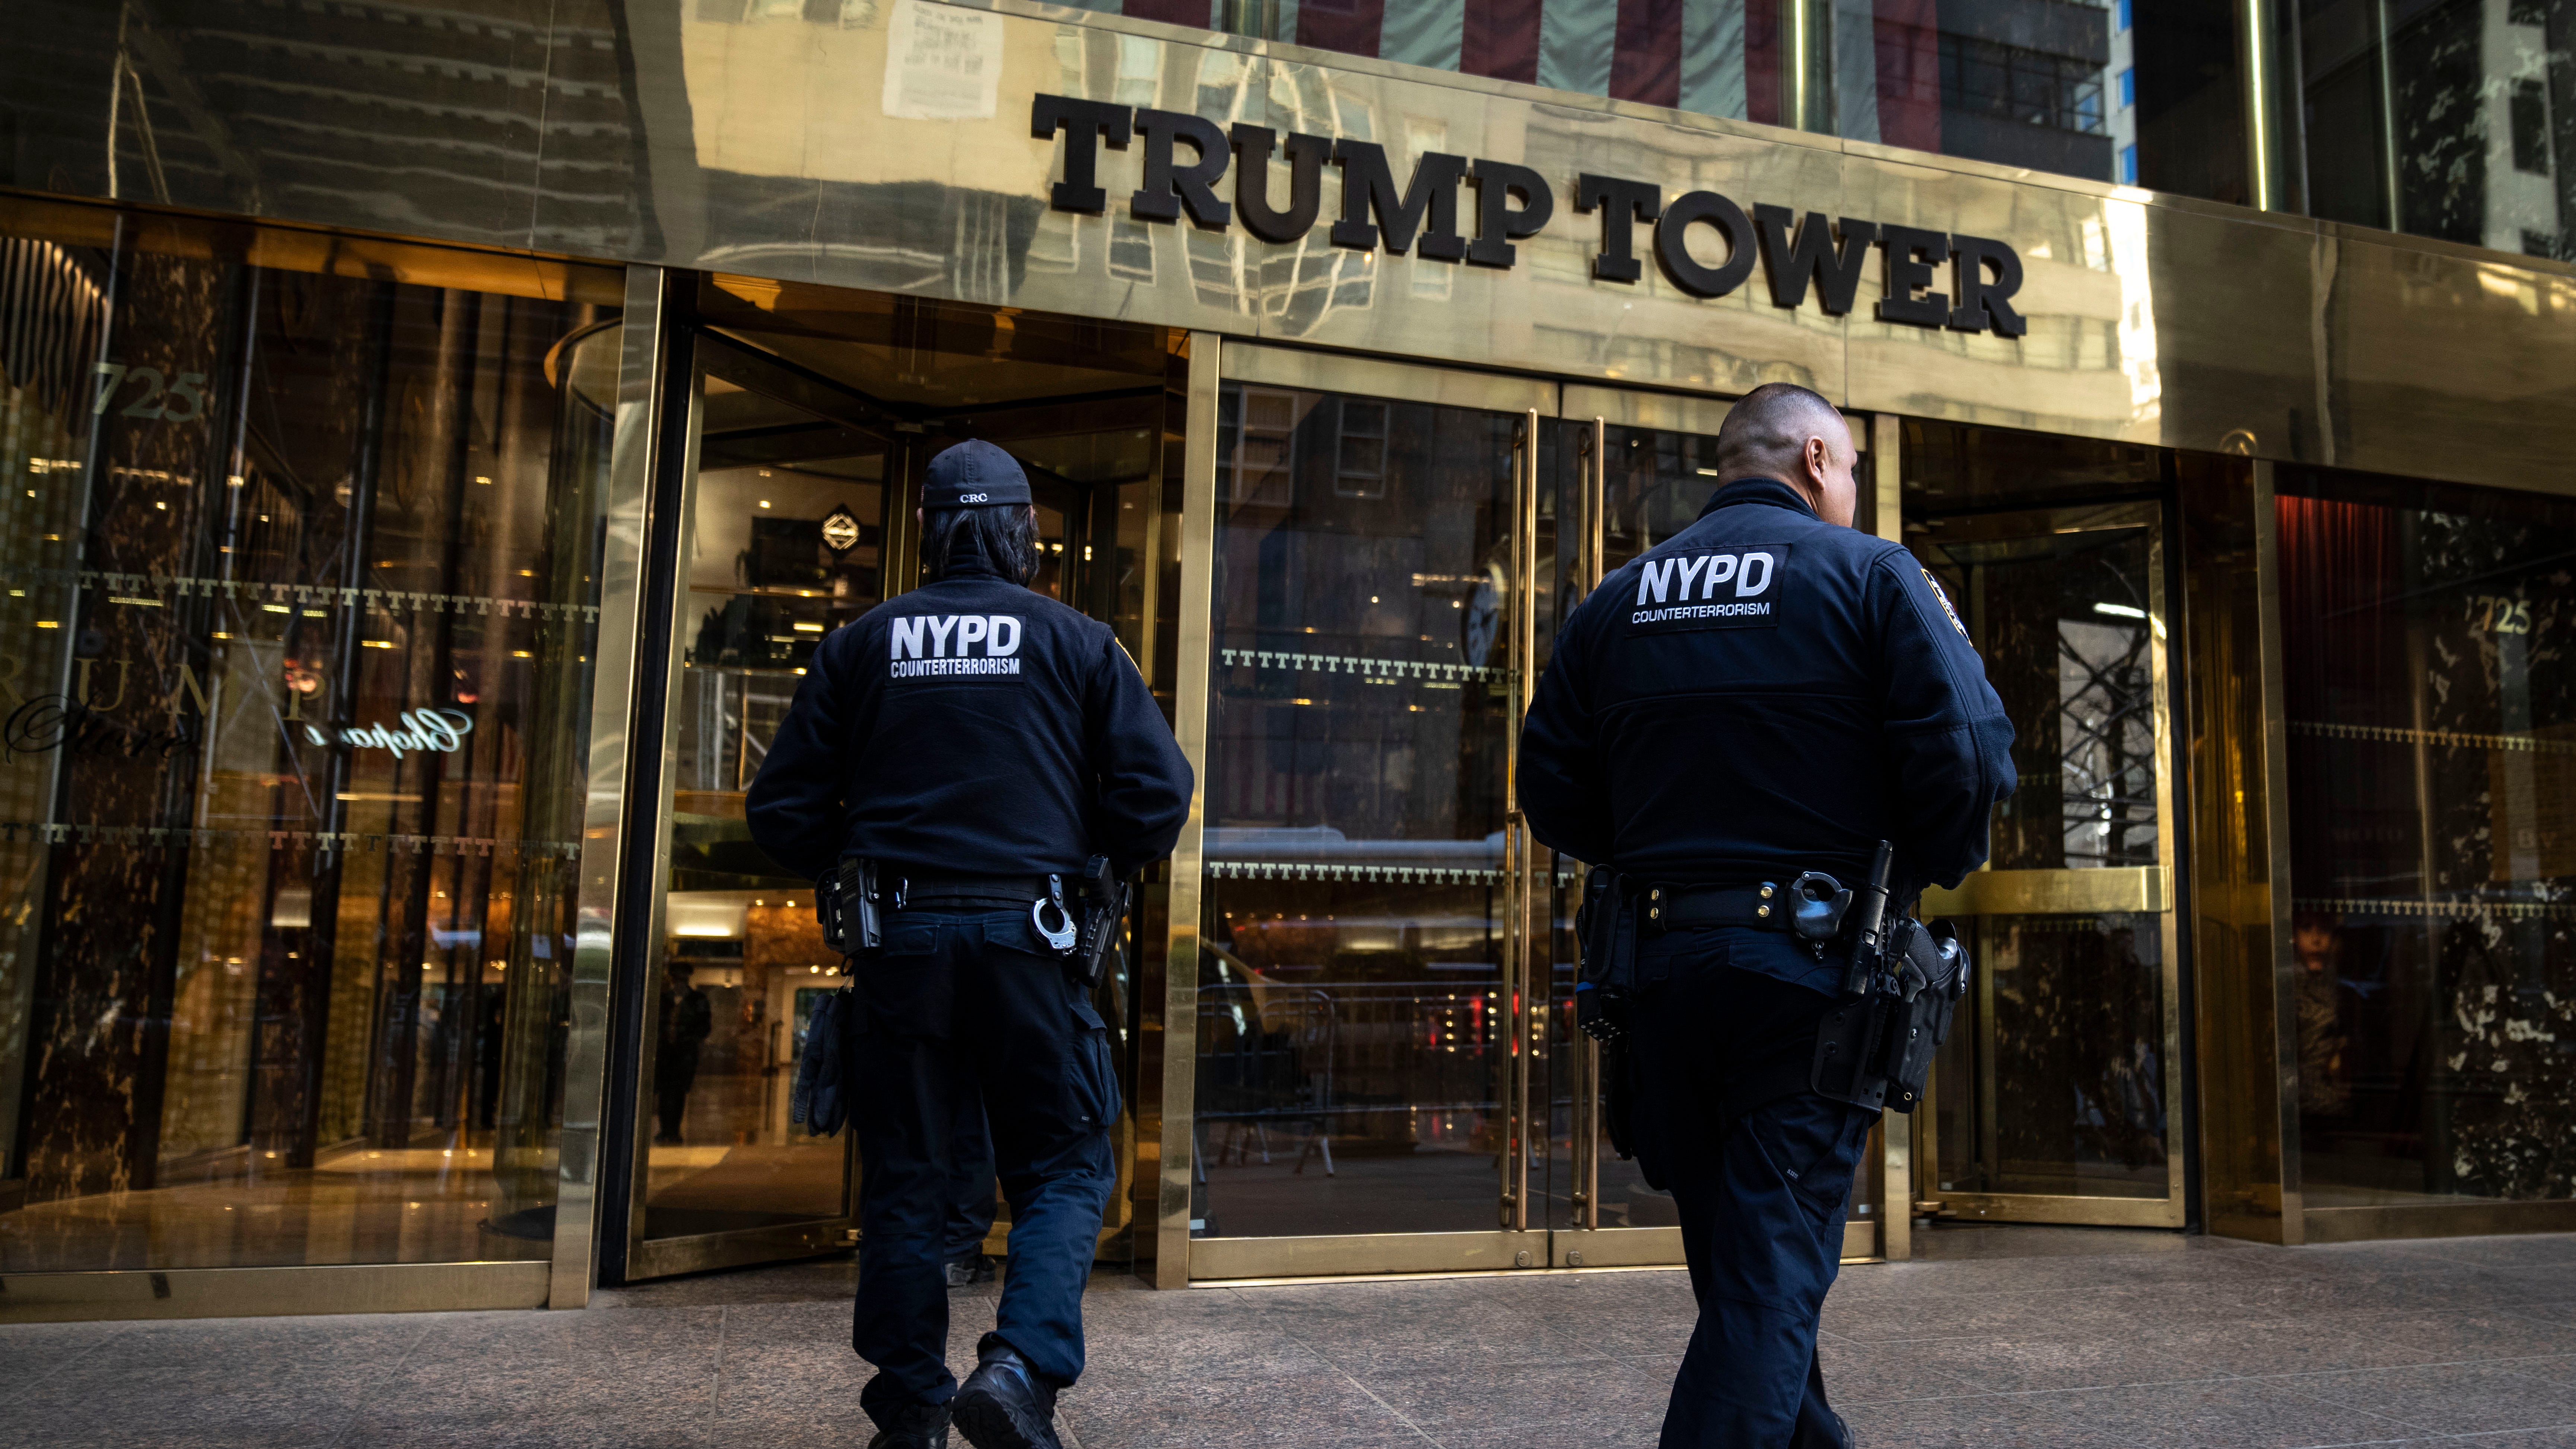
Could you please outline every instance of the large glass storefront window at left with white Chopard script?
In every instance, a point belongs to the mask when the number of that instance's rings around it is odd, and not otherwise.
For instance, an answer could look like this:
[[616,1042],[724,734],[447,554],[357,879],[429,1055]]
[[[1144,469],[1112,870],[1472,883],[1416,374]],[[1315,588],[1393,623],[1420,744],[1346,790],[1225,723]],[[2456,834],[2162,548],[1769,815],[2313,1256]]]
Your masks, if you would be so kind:
[[0,206],[0,1266],[544,1258],[616,271]]

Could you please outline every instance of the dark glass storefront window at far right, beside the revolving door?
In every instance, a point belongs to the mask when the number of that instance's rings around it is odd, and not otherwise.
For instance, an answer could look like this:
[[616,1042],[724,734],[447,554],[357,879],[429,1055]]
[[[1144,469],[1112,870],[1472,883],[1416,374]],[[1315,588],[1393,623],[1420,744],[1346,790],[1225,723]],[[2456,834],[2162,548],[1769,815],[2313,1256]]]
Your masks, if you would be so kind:
[[2576,1196],[2576,503],[2282,472],[2311,1207]]

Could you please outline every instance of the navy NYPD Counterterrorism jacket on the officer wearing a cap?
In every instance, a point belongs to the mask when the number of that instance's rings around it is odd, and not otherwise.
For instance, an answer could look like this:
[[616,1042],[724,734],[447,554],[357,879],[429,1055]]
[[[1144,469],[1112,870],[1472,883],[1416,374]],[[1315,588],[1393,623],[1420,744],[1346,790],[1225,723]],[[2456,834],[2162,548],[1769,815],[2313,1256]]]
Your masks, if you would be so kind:
[[752,779],[752,841],[1033,877],[1172,853],[1190,763],[1108,624],[979,562],[824,634]]

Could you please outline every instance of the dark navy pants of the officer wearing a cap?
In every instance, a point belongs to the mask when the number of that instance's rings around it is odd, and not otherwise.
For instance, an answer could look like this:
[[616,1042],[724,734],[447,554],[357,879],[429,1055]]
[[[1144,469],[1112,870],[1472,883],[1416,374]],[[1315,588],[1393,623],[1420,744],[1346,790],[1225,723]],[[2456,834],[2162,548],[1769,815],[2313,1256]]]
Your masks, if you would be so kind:
[[958,1140],[976,1101],[1010,1199],[1010,1261],[994,1333],[1028,1366],[1082,1374],[1082,1287],[1118,1186],[1118,1078],[1108,1026],[1036,949],[1025,910],[907,910],[853,962],[850,1122],[858,1132],[858,1305],[850,1346],[876,1364],[860,1405],[878,1426],[948,1403],[948,1214]]

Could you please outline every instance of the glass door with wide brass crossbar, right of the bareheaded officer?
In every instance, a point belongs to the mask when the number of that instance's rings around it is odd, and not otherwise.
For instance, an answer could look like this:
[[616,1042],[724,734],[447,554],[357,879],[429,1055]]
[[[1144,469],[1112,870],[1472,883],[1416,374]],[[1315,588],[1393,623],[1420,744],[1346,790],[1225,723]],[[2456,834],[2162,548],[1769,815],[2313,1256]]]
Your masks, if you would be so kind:
[[1922,900],[1981,969],[1914,1114],[1917,1196],[1968,1220],[2179,1227],[2161,508],[1919,523],[1914,554],[2012,717],[2020,789],[1989,866]]

